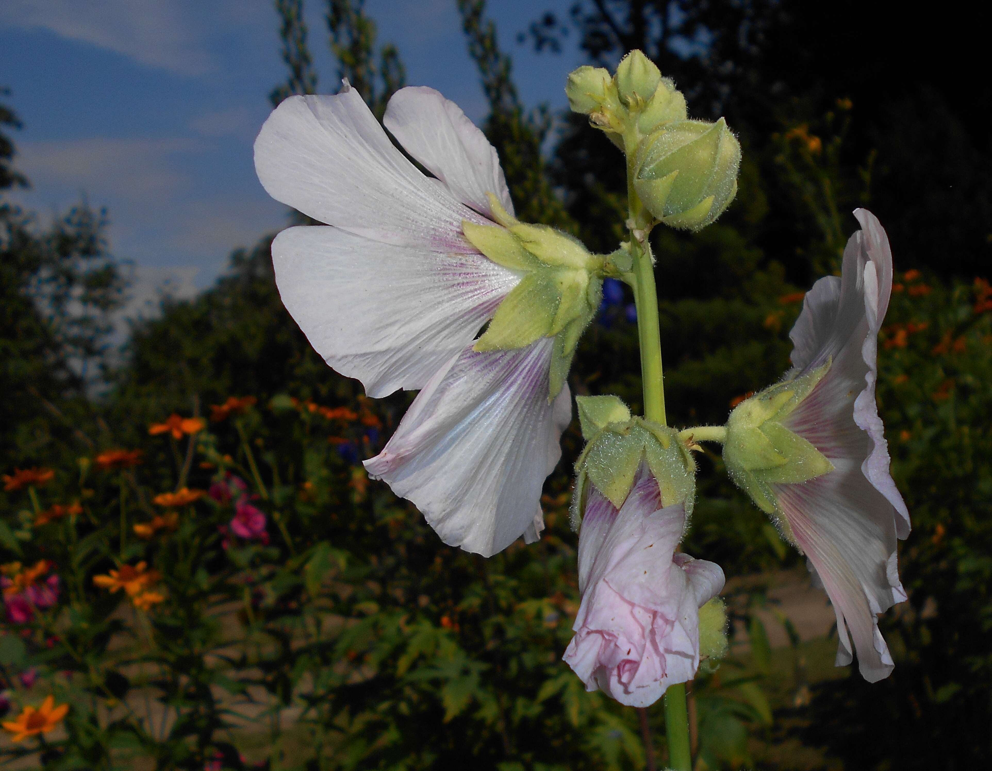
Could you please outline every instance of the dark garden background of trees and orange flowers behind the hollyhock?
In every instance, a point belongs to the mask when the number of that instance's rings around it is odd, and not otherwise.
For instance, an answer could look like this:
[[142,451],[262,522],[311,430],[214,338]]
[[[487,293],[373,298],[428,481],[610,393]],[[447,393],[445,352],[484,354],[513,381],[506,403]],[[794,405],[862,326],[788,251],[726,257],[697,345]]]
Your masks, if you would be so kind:
[[[404,84],[402,52],[377,41],[360,1],[328,0],[340,72],[318,81],[308,47],[322,34],[308,37],[300,3],[276,3],[288,77],[273,104],[334,91],[340,74],[381,116]],[[612,251],[619,155],[584,117],[521,104],[484,0],[457,5],[518,215]],[[776,587],[806,582],[802,558],[705,456],[685,548],[732,578],[734,637],[692,686],[700,769],[992,760],[990,86],[966,20],[881,5],[592,0],[521,21],[549,56],[565,34],[589,63],[643,50],[691,115],[724,115],[739,133],[727,213],[697,235],[656,234],[674,425],[722,422],[787,368],[803,292],[839,269],[851,209],[870,208],[892,240],[879,398],[914,523],[901,550],[910,600],[882,622],[896,670],[868,685],[832,667],[835,638],[803,633],[777,602]],[[104,214],[79,206],[43,229],[10,203],[5,190],[27,181],[18,128],[0,104],[0,757],[664,767],[662,711],[641,725],[560,661],[577,609],[577,425],[538,544],[489,560],[442,545],[361,466],[412,394],[367,399],[323,364],[279,300],[270,239],[235,251],[195,299],[133,324],[121,354],[112,320],[127,286]],[[632,297],[616,282],[604,295],[570,385],[638,409]]]

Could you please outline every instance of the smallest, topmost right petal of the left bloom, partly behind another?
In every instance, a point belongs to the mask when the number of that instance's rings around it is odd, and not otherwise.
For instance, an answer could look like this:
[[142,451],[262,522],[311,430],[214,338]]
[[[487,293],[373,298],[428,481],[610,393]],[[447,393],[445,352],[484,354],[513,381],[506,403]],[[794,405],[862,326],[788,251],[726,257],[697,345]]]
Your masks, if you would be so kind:
[[401,88],[389,100],[383,123],[459,201],[492,217],[490,192],[513,214],[496,149],[454,102],[426,86]]

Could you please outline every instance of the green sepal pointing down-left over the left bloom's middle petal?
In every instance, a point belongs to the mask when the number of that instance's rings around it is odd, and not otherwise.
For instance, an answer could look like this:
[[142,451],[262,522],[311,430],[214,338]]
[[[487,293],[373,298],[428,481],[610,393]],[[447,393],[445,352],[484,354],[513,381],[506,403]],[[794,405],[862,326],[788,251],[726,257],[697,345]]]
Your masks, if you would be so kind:
[[474,351],[509,351],[547,337],[558,313],[558,287],[546,273],[525,275],[503,298]]

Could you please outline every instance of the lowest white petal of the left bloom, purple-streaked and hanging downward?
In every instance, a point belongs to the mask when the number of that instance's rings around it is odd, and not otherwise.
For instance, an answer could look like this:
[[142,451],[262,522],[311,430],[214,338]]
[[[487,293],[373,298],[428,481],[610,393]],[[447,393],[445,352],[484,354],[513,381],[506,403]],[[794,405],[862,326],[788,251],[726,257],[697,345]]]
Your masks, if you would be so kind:
[[491,556],[533,524],[560,431],[553,341],[453,358],[418,394],[369,474],[414,501],[441,540]]

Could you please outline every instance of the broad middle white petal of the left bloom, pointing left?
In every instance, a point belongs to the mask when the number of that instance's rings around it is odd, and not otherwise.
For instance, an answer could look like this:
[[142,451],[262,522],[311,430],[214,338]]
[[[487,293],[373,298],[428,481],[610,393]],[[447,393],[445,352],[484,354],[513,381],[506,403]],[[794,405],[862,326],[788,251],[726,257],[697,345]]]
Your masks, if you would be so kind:
[[284,230],[272,260],[283,303],[313,348],[375,397],[424,387],[520,280],[482,255],[322,226]]

